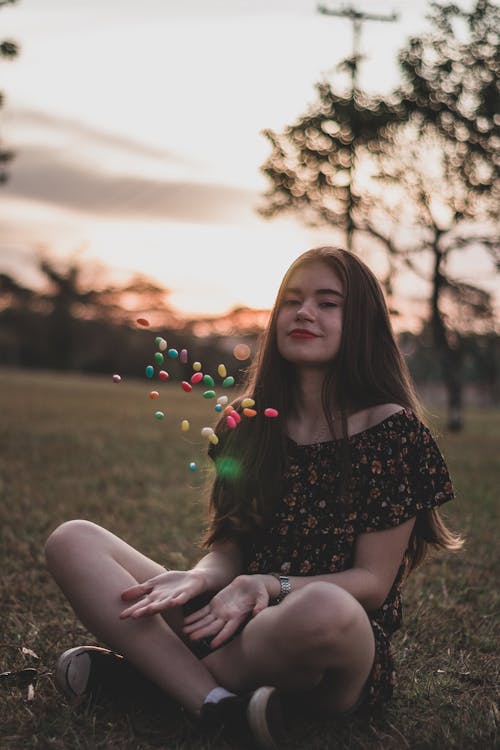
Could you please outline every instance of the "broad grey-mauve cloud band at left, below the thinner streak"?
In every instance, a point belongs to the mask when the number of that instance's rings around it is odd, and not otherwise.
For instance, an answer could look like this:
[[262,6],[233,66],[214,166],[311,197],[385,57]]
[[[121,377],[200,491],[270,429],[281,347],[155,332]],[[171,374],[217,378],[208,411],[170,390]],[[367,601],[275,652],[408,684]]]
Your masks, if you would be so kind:
[[2,193],[112,218],[195,223],[251,221],[257,199],[227,185],[109,174],[38,145],[17,148]]

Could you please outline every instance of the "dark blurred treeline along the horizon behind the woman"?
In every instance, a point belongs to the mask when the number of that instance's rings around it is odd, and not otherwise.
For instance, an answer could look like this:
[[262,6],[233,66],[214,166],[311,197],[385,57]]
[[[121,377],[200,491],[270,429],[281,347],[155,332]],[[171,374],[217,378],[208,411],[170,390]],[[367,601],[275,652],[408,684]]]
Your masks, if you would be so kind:
[[[267,318],[266,311],[239,308],[216,319],[183,321],[168,306],[168,290],[142,277],[127,287],[82,291],[79,266],[60,271],[42,261],[41,267],[51,281],[45,294],[0,274],[0,365],[143,377],[154,364],[155,338],[162,336],[169,348],[187,349],[189,362],[201,361],[205,372],[224,363],[241,382],[252,356],[238,361],[233,348],[246,343],[253,355]],[[125,309],[124,300],[131,299],[134,309]],[[137,326],[139,311],[151,319],[150,327]],[[462,383],[480,388],[493,404],[500,401],[499,340],[489,331],[464,333],[456,342]],[[418,385],[442,382],[429,325],[418,334],[401,333],[399,343]],[[169,357],[164,369],[172,378],[189,372]]]

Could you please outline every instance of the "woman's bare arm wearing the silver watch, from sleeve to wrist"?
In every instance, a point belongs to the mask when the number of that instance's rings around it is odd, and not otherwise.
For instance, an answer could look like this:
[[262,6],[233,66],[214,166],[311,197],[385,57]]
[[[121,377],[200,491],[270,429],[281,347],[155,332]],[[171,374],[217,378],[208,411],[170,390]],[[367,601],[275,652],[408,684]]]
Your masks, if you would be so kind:
[[[371,612],[382,606],[390,591],[403,555],[408,547],[415,518],[383,531],[360,534],[356,540],[352,568],[341,573],[319,576],[291,576],[292,591],[313,581],[325,581],[340,586]],[[280,593],[274,576],[262,576],[270,598]]]

